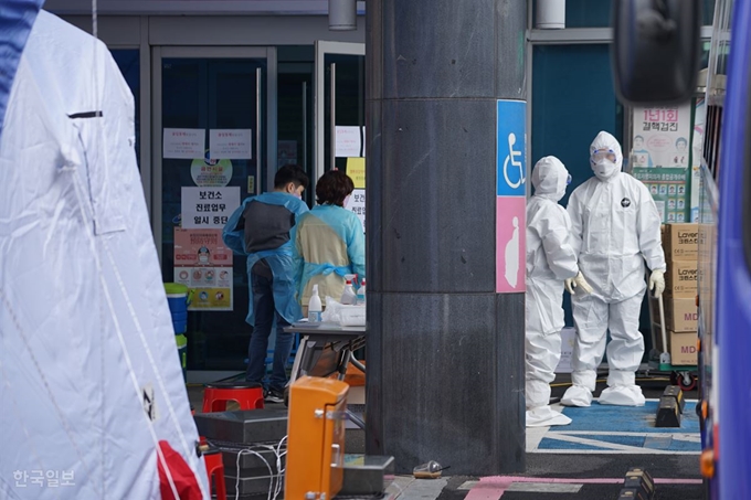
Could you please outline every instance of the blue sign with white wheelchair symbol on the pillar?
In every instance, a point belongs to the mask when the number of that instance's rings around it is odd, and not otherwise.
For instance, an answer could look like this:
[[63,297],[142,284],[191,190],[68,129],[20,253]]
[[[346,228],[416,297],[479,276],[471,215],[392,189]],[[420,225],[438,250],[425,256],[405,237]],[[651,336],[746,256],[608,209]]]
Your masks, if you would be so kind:
[[527,103],[498,100],[496,126],[496,177],[498,196],[527,194]]

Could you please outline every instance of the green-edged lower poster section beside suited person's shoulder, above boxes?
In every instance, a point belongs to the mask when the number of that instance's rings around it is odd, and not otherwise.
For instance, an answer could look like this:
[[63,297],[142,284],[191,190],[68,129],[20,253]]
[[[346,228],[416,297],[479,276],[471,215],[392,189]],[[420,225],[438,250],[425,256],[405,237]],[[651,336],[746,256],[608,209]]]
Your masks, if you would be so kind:
[[688,222],[688,177],[691,169],[634,168],[632,174],[647,187],[663,223]]

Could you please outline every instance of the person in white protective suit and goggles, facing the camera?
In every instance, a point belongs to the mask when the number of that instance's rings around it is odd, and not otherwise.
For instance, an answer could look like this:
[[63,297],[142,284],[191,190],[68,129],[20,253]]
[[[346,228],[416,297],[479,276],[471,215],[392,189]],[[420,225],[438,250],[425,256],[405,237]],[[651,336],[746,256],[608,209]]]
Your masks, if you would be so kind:
[[[572,296],[577,338],[573,349],[573,385],[561,403],[589,406],[595,387],[595,370],[607,344],[607,387],[600,404],[644,405],[635,372],[644,355],[638,319],[646,284],[644,264],[652,269],[649,290],[665,289],[665,254],[660,217],[647,188],[621,172],[623,153],[613,136],[601,131],[590,146],[594,177],[574,190],[569,200],[572,245],[579,268],[592,286],[589,295]],[[573,291],[575,281],[567,280]]]

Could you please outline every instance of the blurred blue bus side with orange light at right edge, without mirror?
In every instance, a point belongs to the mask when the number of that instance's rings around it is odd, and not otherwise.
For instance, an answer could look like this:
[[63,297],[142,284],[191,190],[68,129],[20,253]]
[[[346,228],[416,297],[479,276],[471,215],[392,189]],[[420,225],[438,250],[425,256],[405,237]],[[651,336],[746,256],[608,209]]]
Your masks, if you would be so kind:
[[707,78],[699,275],[701,465],[711,499],[751,498],[750,25],[751,2],[717,3]]

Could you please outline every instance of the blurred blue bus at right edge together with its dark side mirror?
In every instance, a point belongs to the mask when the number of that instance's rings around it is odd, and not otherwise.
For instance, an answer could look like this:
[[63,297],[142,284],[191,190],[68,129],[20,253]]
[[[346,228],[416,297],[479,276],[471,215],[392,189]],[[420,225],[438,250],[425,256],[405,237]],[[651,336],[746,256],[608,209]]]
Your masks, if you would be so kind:
[[[691,97],[700,1],[614,1],[616,92]],[[731,36],[732,35],[732,36]],[[751,1],[718,0],[706,82],[699,209],[699,398],[706,497],[751,499]]]

